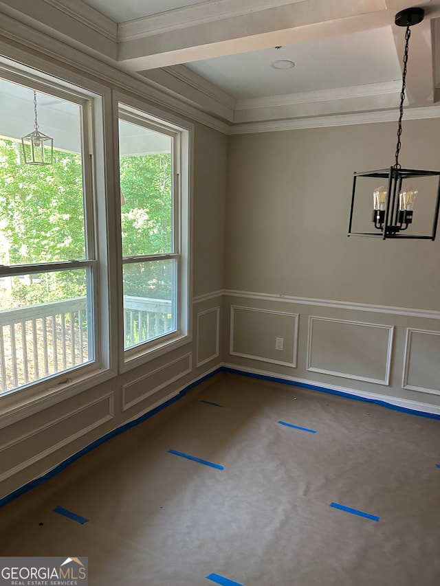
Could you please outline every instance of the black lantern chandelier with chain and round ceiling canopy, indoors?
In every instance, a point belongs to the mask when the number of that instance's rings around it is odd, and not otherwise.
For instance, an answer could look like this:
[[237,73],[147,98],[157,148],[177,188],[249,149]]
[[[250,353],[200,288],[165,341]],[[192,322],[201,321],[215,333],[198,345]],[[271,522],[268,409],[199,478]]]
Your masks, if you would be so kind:
[[[411,36],[410,27],[423,21],[423,16],[424,12],[422,8],[407,8],[406,10],[401,10],[401,12],[398,12],[395,16],[396,25],[406,27],[404,69],[400,94],[395,164],[388,169],[355,172],[353,174],[353,192],[351,196],[348,236],[375,236],[376,238],[379,237],[384,240],[386,240],[386,238],[435,239],[440,205],[440,171],[402,169],[399,164],[402,133],[401,120],[404,115],[408,46]],[[418,189],[412,186],[410,180],[413,180],[412,183],[415,183],[415,181],[417,183],[417,180],[426,177],[439,178],[431,180],[435,181],[435,189],[437,190],[437,196],[434,201],[432,230],[429,234],[408,234],[405,231],[412,224],[413,205],[418,193]],[[373,222],[376,232],[355,232],[352,229],[355,196],[358,195],[356,201],[359,201],[360,197],[363,198],[364,195],[368,194],[365,189],[359,189],[359,185],[362,183],[360,179],[364,178],[384,179],[384,185],[373,189],[373,216],[371,217],[371,221]],[[379,181],[377,181],[377,183],[379,183]],[[364,185],[361,187],[364,188]],[[371,196],[371,190],[369,191],[369,196]],[[362,207],[364,207],[364,205]]]

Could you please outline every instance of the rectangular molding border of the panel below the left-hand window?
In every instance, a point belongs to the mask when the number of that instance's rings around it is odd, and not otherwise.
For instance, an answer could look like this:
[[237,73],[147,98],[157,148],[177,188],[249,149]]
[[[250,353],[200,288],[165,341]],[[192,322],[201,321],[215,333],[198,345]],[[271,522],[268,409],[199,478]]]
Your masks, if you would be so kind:
[[86,405],[81,405],[81,407],[78,407],[77,409],[74,409],[73,411],[71,411],[67,414],[64,414],[61,417],[57,417],[56,419],[51,420],[49,423],[46,423],[45,425],[41,425],[40,427],[37,427],[36,429],[32,429],[32,431],[30,431],[28,433],[24,433],[23,436],[20,436],[19,438],[14,438],[14,440],[12,440],[6,444],[3,444],[0,447],[0,453],[6,449],[9,449],[13,445],[19,444],[20,442],[23,442],[23,441],[27,440],[28,438],[35,436],[37,433],[40,433],[41,431],[44,431],[45,429],[50,429],[50,427],[54,427],[54,425],[58,424],[61,421],[69,419],[70,417],[72,417],[80,412],[85,411],[85,409],[88,409],[89,407],[92,407],[93,405],[96,405],[96,404],[100,403],[101,401],[104,401],[104,399],[109,400],[109,413],[106,416],[102,417],[98,421],[95,421],[94,423],[91,423],[90,425],[88,425],[84,429],[80,429],[79,431],[76,431],[76,433],[72,433],[71,436],[68,436],[64,440],[61,440],[61,442],[57,442],[53,446],[50,446],[49,448],[43,450],[42,452],[32,456],[32,458],[28,458],[28,460],[24,460],[23,462],[20,462],[20,464],[17,464],[17,466],[14,466],[13,468],[3,472],[2,474],[0,474],[0,482],[3,482],[3,480],[6,480],[6,478],[9,478],[10,476],[17,474],[18,472],[27,468],[28,466],[35,464],[35,462],[39,462],[39,460],[43,460],[43,458],[45,458],[47,455],[50,455],[51,453],[54,453],[55,451],[65,447],[67,444],[70,444],[70,443],[74,442],[75,440],[78,440],[78,438],[85,436],[87,433],[89,433],[89,431],[92,431],[93,429],[96,429],[97,427],[100,427],[100,425],[103,425],[107,421],[110,421],[111,419],[113,419],[113,416],[114,416],[113,392],[102,395],[99,398],[95,399],[94,401],[90,401]]

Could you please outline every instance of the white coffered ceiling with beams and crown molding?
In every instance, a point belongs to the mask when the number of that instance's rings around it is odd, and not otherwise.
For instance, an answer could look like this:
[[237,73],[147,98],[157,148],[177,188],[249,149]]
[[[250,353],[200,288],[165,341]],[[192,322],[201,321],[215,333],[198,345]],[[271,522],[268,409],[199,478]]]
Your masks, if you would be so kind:
[[[406,109],[424,112],[440,108],[440,0],[410,5],[426,16],[411,29]],[[53,36],[241,129],[397,117],[405,29],[394,19],[404,8],[408,0],[0,1],[0,12],[52,27]],[[78,29],[63,28],[67,14]],[[295,66],[270,66],[279,59]]]

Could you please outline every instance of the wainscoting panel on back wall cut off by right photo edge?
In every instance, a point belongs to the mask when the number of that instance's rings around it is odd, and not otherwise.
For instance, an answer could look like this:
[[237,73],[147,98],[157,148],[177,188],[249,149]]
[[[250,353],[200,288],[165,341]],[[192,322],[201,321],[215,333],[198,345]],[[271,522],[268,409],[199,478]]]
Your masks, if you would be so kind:
[[406,330],[402,387],[440,395],[440,332]]

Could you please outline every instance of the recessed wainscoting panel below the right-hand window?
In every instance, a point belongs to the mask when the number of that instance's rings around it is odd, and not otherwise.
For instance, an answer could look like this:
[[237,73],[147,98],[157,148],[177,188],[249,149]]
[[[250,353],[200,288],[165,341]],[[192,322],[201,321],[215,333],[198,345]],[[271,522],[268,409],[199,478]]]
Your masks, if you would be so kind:
[[126,383],[122,387],[122,411],[144,401],[147,397],[189,374],[191,370],[192,353],[188,352],[188,354]]

